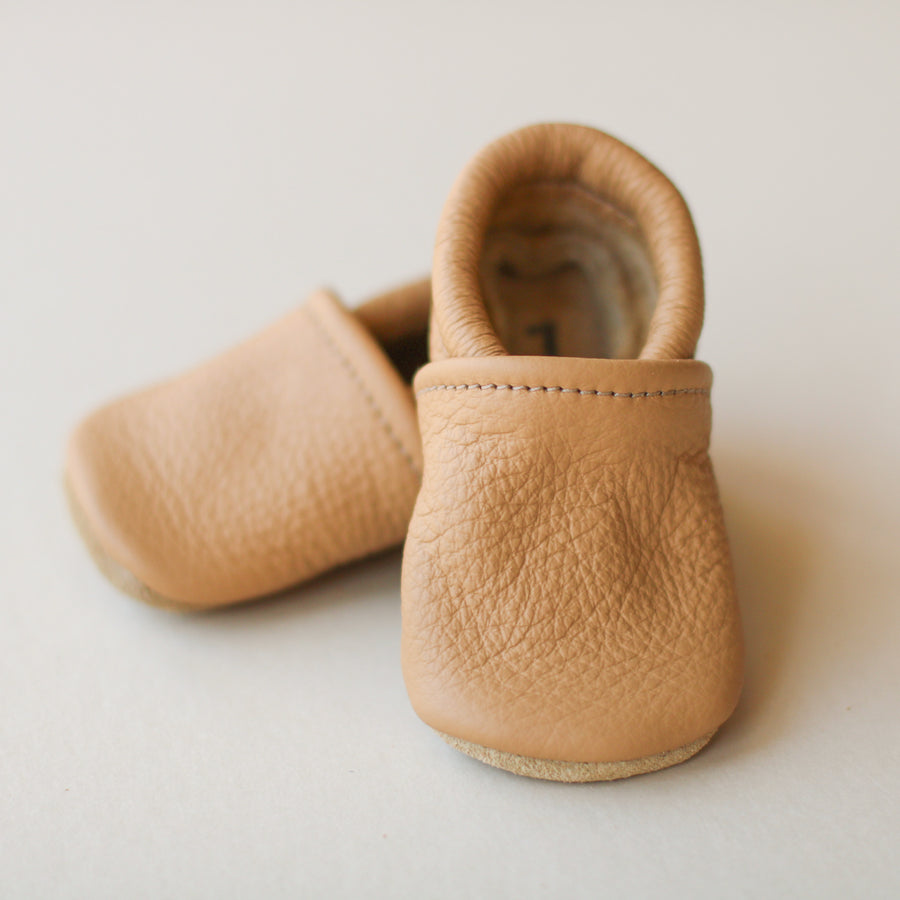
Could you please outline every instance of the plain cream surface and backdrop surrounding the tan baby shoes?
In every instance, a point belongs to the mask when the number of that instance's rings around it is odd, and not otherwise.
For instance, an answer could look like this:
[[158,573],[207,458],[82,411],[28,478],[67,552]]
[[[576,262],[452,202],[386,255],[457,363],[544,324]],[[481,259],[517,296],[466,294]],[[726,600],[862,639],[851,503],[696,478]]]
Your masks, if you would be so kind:
[[[0,0],[0,895],[896,897],[900,7]],[[694,761],[571,787],[411,712],[399,554],[179,617],[70,524],[100,401],[427,271],[575,120],[694,211],[748,638]]]

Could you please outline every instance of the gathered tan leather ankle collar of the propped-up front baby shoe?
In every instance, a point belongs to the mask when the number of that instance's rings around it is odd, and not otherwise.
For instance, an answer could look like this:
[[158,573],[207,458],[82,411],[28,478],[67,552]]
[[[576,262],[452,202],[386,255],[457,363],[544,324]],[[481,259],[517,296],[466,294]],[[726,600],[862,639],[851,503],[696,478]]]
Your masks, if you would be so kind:
[[559,182],[612,201],[647,242],[659,299],[642,359],[694,355],[703,269],[691,214],[666,176],[620,141],[579,125],[533,125],[482,150],[450,191],[438,226],[431,354],[504,356],[481,298],[479,257],[491,214],[510,189]]

